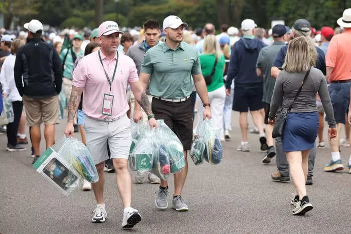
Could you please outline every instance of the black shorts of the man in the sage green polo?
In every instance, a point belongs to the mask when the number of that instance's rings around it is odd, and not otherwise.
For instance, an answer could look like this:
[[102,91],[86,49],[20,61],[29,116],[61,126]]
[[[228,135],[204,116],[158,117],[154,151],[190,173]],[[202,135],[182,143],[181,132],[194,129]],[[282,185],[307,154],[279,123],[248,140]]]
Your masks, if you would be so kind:
[[193,107],[189,98],[184,102],[167,102],[152,98],[151,109],[156,119],[164,123],[178,136],[184,150],[190,150],[193,141]]

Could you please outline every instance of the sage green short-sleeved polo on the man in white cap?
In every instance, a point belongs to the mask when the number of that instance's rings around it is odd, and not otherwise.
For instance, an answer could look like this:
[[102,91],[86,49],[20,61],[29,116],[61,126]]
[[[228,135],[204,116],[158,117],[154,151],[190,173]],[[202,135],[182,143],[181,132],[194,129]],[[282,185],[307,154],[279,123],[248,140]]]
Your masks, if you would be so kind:
[[152,96],[181,99],[193,92],[192,75],[201,74],[199,54],[185,42],[175,50],[159,43],[145,53],[140,72],[151,75]]

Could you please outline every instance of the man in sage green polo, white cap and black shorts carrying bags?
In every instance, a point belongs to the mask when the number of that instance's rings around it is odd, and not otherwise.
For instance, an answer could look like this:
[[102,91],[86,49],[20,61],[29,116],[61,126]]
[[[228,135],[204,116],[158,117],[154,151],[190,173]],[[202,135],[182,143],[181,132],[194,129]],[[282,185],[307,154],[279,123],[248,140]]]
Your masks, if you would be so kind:
[[[187,211],[188,205],[181,193],[188,174],[187,151],[190,150],[193,138],[193,109],[190,94],[192,76],[198,95],[204,103],[204,119],[211,118],[209,97],[206,83],[201,72],[200,59],[196,48],[183,42],[183,29],[188,27],[177,16],[168,16],[163,21],[164,43],[149,49],[141,65],[139,79],[144,89],[149,85],[152,98],[152,112],[156,119],[164,119],[165,124],[177,134],[183,144],[185,167],[174,173],[174,194],[172,208]],[[150,79],[151,78],[151,79]],[[142,118],[135,110],[134,119]],[[161,180],[156,192],[156,206],[166,209],[168,184]]]

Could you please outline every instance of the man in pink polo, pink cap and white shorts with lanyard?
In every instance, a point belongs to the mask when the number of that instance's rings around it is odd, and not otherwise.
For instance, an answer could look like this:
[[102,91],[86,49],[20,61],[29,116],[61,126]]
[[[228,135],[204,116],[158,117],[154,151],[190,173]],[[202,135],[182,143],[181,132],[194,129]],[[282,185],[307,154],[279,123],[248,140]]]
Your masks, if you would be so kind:
[[107,216],[103,199],[104,162],[107,143],[113,166],[117,172],[117,187],[123,203],[123,228],[131,228],[141,220],[131,205],[131,178],[127,161],[131,143],[129,109],[126,98],[127,83],[149,119],[150,127],[157,127],[151,105],[138,80],[132,59],[119,54],[119,35],[116,22],[103,22],[98,28],[101,49],[85,56],[73,72],[73,86],[68,106],[66,136],[73,135],[73,119],[83,93],[83,111],[87,115],[84,129],[89,152],[96,164],[99,181],[92,183],[97,206],[92,222],[104,222]]

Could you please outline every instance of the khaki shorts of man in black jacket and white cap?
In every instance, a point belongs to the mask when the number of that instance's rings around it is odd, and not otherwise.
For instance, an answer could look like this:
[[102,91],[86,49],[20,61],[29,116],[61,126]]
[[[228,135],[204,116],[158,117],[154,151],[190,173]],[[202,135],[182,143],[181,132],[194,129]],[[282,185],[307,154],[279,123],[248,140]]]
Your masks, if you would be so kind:
[[26,120],[30,127],[44,124],[58,124],[59,96],[47,98],[31,98],[23,96],[26,109]]

